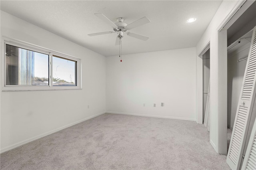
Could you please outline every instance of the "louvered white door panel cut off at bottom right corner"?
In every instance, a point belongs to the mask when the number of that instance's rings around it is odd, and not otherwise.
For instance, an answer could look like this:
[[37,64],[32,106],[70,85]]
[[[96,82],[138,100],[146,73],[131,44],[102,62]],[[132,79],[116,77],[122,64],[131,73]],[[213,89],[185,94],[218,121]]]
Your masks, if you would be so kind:
[[250,140],[244,156],[242,170],[256,170],[256,119],[254,121]]

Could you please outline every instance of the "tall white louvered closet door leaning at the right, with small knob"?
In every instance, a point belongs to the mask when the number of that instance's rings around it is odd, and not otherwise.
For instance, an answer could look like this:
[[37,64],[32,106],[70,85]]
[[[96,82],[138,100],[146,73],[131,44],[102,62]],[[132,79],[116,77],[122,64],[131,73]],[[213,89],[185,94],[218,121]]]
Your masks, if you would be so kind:
[[246,69],[242,89],[238,101],[236,118],[228,148],[227,163],[230,168],[239,169],[242,161],[242,153],[244,151],[246,135],[252,115],[253,102],[255,99],[255,81],[256,81],[256,27],[252,34]]

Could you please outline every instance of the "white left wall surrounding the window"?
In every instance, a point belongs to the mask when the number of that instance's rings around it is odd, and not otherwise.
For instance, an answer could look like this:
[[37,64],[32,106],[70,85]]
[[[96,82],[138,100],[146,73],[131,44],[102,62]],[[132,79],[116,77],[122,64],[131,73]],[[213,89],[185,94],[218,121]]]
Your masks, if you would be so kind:
[[[2,36],[82,59],[82,89],[1,91],[1,152],[105,113],[104,56],[1,11],[1,38]],[[3,48],[1,39],[1,51]],[[2,52],[1,57],[4,57]],[[3,75],[1,72],[1,76]]]

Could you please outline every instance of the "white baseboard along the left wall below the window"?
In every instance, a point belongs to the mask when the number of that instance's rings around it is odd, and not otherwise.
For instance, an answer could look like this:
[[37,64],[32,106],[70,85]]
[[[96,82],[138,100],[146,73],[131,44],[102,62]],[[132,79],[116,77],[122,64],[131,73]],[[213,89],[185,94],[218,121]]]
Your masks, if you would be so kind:
[[11,150],[11,149],[14,149],[14,148],[16,148],[16,147],[18,147],[18,146],[21,146],[21,145],[23,145],[23,144],[32,142],[32,141],[34,141],[34,140],[37,140],[37,139],[42,138],[42,137],[44,137],[44,136],[47,136],[47,135],[49,135],[49,134],[58,132],[58,131],[60,131],[60,130],[62,130],[62,129],[64,129],[64,128],[71,127],[71,126],[73,126],[73,125],[76,125],[76,124],[81,123],[81,122],[83,122],[83,121],[86,121],[86,120],[88,120],[88,119],[92,119],[92,118],[97,117],[97,116],[99,116],[99,115],[102,115],[102,114],[104,114],[104,113],[106,113],[106,112],[102,112],[102,113],[99,113],[99,114],[97,114],[97,115],[93,115],[93,116],[87,117],[87,118],[82,119],[82,120],[80,120],[80,121],[76,121],[76,122],[74,122],[74,123],[70,123],[70,124],[65,125],[65,126],[63,126],[63,127],[56,128],[56,129],[51,130],[51,131],[49,131],[49,132],[46,132],[46,133],[43,133],[43,134],[34,136],[34,137],[32,137],[32,138],[23,140],[23,141],[18,142],[18,143],[16,143],[16,144],[12,144],[11,146],[2,148],[2,149],[0,150],[0,153],[6,152],[6,151]]

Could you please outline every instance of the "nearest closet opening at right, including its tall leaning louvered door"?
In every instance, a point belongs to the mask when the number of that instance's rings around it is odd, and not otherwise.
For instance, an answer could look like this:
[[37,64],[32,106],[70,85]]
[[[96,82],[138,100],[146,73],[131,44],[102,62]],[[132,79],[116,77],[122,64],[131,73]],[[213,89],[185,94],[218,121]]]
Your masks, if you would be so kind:
[[[241,169],[246,164],[244,157],[256,118],[256,92],[253,85],[256,79],[253,43],[256,35],[256,1],[248,3],[251,4],[227,29],[227,163],[232,169]],[[244,122],[240,129],[241,118]],[[239,134],[238,130],[242,133]],[[238,148],[235,147],[237,141],[240,141]],[[233,156],[234,152],[236,157]]]

